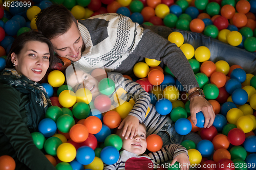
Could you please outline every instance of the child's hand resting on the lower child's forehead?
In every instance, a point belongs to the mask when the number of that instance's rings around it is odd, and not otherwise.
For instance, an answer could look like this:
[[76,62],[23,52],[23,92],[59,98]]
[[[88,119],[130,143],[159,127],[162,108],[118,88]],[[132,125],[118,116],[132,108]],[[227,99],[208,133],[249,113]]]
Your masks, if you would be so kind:
[[122,136],[125,135],[124,138],[128,139],[129,135],[131,134],[130,138],[132,139],[138,133],[139,124],[140,122],[137,117],[128,115],[123,119],[118,129],[122,129],[123,127]]

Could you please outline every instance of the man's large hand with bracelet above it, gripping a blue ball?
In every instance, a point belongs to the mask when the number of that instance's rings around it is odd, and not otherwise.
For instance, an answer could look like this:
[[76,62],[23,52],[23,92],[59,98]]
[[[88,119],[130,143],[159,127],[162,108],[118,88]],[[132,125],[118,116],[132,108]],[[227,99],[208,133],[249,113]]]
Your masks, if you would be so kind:
[[190,100],[190,115],[191,120],[196,125],[197,124],[197,118],[196,113],[202,111],[204,114],[204,128],[209,128],[213,123],[215,119],[215,113],[214,109],[212,109],[211,104],[204,99],[202,96],[195,96]]

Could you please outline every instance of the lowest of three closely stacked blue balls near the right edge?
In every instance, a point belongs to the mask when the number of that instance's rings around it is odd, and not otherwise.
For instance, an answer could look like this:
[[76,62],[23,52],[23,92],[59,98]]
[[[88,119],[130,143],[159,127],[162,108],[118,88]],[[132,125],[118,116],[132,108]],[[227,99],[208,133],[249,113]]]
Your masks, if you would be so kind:
[[232,93],[231,99],[236,105],[244,105],[248,100],[248,93],[242,88],[236,89]]

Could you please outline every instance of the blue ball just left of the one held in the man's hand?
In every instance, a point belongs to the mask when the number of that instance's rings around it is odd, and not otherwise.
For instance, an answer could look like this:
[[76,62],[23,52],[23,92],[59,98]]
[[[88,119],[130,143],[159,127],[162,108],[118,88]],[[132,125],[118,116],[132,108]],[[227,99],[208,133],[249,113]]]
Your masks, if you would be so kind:
[[189,132],[192,130],[192,125],[190,121],[186,118],[179,118],[175,125],[174,128],[176,132],[180,135],[187,135]]

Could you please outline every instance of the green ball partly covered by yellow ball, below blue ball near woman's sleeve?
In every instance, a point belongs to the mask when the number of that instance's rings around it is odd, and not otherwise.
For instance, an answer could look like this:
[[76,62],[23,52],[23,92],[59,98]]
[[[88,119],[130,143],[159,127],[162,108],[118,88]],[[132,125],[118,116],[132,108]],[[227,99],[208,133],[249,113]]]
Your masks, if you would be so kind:
[[44,149],[47,154],[56,156],[57,155],[57,148],[59,145],[62,144],[62,141],[57,137],[49,137],[45,141]]

